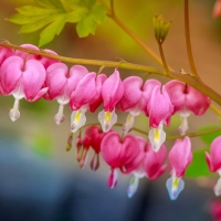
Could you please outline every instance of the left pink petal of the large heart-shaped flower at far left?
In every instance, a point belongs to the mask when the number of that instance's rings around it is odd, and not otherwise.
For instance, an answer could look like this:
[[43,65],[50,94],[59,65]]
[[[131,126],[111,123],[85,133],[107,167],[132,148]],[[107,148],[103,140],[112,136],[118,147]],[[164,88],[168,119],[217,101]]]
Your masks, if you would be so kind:
[[19,56],[8,57],[1,66],[0,82],[6,94],[11,94],[22,76],[23,60]]

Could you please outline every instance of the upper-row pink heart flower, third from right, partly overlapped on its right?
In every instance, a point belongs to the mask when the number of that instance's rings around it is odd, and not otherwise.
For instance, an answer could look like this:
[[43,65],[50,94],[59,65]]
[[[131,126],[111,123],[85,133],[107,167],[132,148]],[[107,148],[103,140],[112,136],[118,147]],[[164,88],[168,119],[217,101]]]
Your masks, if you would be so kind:
[[122,112],[129,112],[123,130],[127,134],[134,126],[135,117],[144,113],[147,115],[147,104],[155,86],[160,85],[157,80],[148,80],[145,83],[138,76],[129,76],[123,81],[124,95],[117,104]]

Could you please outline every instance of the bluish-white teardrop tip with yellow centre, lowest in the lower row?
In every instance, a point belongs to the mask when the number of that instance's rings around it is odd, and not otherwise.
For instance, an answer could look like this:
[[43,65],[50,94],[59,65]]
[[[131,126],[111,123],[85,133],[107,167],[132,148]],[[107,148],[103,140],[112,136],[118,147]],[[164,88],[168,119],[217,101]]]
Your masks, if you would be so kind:
[[170,200],[176,200],[180,192],[185,189],[185,181],[179,177],[170,177],[166,187],[170,197]]

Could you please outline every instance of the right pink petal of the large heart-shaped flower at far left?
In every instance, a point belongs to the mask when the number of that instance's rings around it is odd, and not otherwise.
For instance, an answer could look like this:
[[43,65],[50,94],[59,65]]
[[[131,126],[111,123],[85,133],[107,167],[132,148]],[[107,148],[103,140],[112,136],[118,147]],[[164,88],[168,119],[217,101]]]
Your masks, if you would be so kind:
[[35,97],[35,95],[42,88],[45,76],[45,70],[40,62],[35,60],[27,61],[23,71],[22,85],[28,101]]

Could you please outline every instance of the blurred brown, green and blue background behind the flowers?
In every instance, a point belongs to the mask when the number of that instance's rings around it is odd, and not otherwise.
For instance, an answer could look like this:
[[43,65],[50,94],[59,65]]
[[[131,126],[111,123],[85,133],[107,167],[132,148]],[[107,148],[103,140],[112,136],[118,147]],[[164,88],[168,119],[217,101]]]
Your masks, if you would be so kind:
[[[221,93],[221,19],[212,18],[214,0],[190,1],[191,42],[196,66],[203,82]],[[0,4],[0,39],[13,44],[30,43],[38,45],[39,33],[20,34],[20,27],[4,19],[15,13],[15,8],[32,4],[32,0],[2,0]],[[164,44],[167,62],[176,71],[190,72],[183,29],[182,0],[120,0],[115,2],[116,14],[150,49],[158,53],[154,38],[152,17],[162,14],[172,25]],[[74,24],[66,24],[62,33],[44,49],[51,49],[60,55],[119,61],[120,59],[149,66],[159,65],[131,40],[114,21],[101,24],[95,35],[80,39]],[[119,59],[120,57],[120,59]],[[87,66],[98,71],[98,66]],[[104,73],[113,73],[105,69]],[[124,77],[139,75],[133,71],[120,70]],[[167,78],[151,75],[166,82]],[[133,199],[126,196],[129,176],[119,176],[118,186],[113,191],[106,187],[108,167],[91,171],[88,164],[80,169],[75,159],[75,148],[65,150],[70,134],[71,109],[65,107],[65,122],[57,126],[54,115],[56,101],[40,99],[20,103],[21,117],[12,123],[8,116],[13,97],[0,97],[0,221],[11,220],[76,220],[76,221],[171,221],[171,220],[212,220],[209,203],[213,197],[217,176],[210,179],[186,179],[186,189],[177,201],[171,202],[165,187],[166,175],[157,181],[143,180]],[[102,107],[101,107],[102,108]],[[97,113],[87,113],[88,123],[97,122]],[[126,115],[119,114],[119,123]],[[209,109],[204,116],[191,116],[190,131],[208,125],[219,125],[219,118]],[[148,120],[139,116],[136,126],[148,130]],[[179,117],[172,118],[168,135],[176,135]],[[75,137],[74,137],[75,140]],[[168,149],[172,141],[166,143]],[[74,145],[73,145],[74,146]],[[207,148],[198,138],[192,139],[192,148]],[[203,157],[203,155],[202,155]],[[92,154],[90,156],[92,158]],[[204,160],[204,159],[203,159]],[[208,171],[207,171],[208,172]],[[207,173],[206,172],[206,173]],[[191,173],[191,171],[189,172]],[[189,176],[191,177],[191,176]]]

